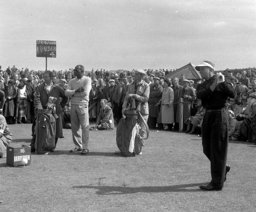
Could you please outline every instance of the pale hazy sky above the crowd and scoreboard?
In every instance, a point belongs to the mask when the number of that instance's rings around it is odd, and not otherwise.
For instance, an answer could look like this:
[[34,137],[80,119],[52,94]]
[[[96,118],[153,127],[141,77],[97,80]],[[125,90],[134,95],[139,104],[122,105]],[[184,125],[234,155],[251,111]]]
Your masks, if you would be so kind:
[[255,0],[0,0],[0,29],[2,70],[45,70],[36,40],[48,70],[256,66]]

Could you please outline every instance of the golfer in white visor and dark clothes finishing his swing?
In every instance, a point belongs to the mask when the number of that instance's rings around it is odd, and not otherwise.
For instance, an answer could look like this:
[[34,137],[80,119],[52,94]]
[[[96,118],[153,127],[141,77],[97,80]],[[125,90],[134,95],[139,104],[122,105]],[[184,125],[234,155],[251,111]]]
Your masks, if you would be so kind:
[[206,191],[222,190],[230,166],[228,153],[228,114],[225,110],[228,97],[235,97],[235,90],[223,75],[215,75],[214,64],[203,61],[195,67],[206,81],[197,86],[197,96],[206,109],[202,125],[203,153],[211,162],[212,180],[200,188]]

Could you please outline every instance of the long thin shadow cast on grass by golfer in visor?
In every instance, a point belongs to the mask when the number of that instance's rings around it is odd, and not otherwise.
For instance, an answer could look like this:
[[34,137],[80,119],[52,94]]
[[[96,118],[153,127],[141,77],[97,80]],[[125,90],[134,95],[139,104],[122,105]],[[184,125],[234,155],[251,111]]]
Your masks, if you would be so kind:
[[[208,182],[209,183],[209,182]],[[202,191],[199,186],[206,185],[207,182],[182,184],[182,185],[169,185],[169,186],[141,186],[141,187],[125,187],[124,186],[94,186],[94,185],[80,185],[73,186],[72,188],[82,189],[97,189],[98,195],[109,194],[134,194],[134,193],[163,193],[163,192],[195,192]],[[197,187],[197,188],[191,188]]]

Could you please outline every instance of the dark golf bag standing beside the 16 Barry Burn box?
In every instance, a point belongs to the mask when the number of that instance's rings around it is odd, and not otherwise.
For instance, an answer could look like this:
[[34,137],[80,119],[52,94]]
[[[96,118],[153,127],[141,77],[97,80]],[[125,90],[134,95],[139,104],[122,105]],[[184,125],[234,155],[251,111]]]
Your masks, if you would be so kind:
[[37,112],[36,125],[34,134],[35,152],[49,151],[55,148],[56,135],[56,114],[52,113],[52,109],[42,109]]

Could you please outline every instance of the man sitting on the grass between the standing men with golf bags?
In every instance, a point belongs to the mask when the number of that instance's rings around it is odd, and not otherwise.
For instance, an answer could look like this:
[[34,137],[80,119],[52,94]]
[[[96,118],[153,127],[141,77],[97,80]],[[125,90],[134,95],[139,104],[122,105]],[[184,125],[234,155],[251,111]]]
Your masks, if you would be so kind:
[[101,109],[95,125],[98,130],[112,130],[115,127],[112,109],[106,103],[106,99],[100,100]]

